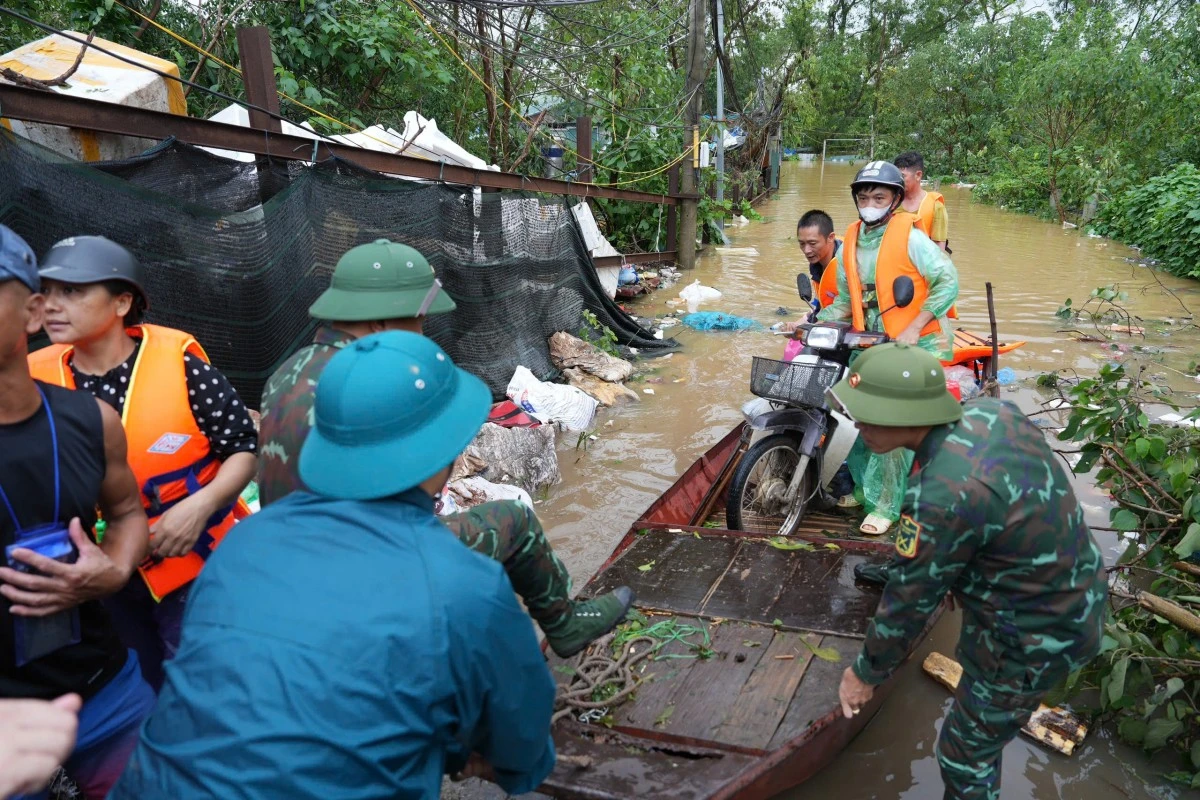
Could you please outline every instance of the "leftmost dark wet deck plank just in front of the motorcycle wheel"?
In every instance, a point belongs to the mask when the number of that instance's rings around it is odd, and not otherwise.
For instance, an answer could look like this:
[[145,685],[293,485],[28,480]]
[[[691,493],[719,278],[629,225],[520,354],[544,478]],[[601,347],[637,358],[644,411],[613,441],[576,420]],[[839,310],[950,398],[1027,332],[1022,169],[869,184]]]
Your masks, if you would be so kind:
[[[629,587],[637,604],[679,614],[695,614],[733,560],[736,537],[672,534],[652,530],[640,536],[616,563],[589,584],[592,596]],[[648,570],[640,567],[650,565]]]

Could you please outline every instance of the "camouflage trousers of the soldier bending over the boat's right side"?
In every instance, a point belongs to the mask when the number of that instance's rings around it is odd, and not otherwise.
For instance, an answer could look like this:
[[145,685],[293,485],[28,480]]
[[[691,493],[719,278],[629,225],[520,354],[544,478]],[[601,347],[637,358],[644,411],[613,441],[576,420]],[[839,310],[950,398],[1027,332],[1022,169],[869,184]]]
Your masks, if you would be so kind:
[[1033,688],[1021,680],[991,682],[964,670],[937,739],[946,800],[998,800],[1004,745],[1038,709],[1050,686]]

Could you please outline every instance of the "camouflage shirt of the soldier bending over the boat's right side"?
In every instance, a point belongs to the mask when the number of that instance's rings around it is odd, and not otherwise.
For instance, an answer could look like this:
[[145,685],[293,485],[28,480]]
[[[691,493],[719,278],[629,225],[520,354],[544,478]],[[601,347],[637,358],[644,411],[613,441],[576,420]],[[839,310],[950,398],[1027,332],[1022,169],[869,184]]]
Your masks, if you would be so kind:
[[962,606],[964,670],[1050,688],[1043,674],[1099,650],[1103,566],[1042,431],[1010,403],[972,401],[917,450],[896,558],[854,673],[888,678],[949,590]]

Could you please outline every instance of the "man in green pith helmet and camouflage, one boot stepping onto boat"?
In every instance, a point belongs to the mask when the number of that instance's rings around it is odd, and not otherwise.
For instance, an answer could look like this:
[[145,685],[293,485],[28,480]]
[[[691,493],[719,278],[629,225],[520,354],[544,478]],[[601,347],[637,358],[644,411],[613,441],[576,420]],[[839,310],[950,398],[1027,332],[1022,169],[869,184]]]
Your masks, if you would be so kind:
[[[304,488],[300,447],[312,429],[313,391],[329,360],[356,338],[385,330],[420,333],[426,314],[454,309],[430,263],[407,245],[380,239],[342,255],[330,288],[308,309],[325,324],[312,344],[275,371],[263,391],[258,434],[263,506]],[[611,631],[634,602],[625,587],[572,601],[566,567],[554,555],[536,515],[522,503],[485,503],[442,522],[467,547],[504,565],[512,588],[559,656],[578,652]]]

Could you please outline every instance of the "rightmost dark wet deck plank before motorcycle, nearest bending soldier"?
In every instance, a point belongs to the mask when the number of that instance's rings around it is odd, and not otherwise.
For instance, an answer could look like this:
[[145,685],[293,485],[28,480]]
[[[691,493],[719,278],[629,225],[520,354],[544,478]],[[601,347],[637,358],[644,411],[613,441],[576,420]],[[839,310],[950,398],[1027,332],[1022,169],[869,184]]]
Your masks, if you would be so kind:
[[798,553],[800,566],[779,601],[761,621],[780,620],[787,627],[863,636],[875,615],[882,590],[854,583],[854,566],[888,560],[888,555],[848,549]]

